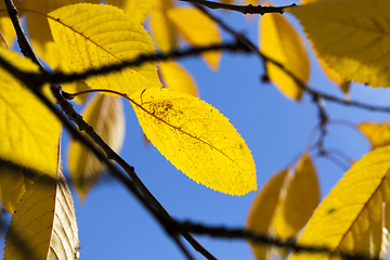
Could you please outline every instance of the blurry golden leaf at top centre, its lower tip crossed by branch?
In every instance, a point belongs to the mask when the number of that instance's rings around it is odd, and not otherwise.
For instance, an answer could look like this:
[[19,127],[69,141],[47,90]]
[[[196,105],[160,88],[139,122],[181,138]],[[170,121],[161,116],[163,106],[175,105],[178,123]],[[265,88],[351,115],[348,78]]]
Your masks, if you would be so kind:
[[[221,43],[216,23],[195,8],[171,8],[168,17],[180,35],[195,47]],[[206,52],[203,57],[212,69],[218,69],[221,51]]]

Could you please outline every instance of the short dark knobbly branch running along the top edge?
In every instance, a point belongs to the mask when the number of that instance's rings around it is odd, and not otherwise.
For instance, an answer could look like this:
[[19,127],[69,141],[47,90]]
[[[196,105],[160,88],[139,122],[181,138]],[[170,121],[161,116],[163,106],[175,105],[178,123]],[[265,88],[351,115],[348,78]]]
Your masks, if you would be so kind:
[[224,9],[230,11],[236,11],[243,14],[265,14],[265,13],[280,13],[283,14],[285,8],[291,8],[297,6],[297,4],[292,3],[290,5],[285,6],[261,6],[260,4],[257,6],[253,6],[251,4],[249,5],[235,5],[235,4],[226,4],[226,3],[220,3],[220,2],[212,2],[212,1],[206,1],[206,0],[180,0],[183,2],[191,2],[195,4],[199,4],[209,9]]

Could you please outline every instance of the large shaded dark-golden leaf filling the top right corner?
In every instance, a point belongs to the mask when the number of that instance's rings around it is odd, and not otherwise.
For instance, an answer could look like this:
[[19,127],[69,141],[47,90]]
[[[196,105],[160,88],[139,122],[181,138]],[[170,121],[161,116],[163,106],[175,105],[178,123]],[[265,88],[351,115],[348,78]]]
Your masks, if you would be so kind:
[[390,86],[390,2],[317,1],[289,8],[318,55],[344,79]]

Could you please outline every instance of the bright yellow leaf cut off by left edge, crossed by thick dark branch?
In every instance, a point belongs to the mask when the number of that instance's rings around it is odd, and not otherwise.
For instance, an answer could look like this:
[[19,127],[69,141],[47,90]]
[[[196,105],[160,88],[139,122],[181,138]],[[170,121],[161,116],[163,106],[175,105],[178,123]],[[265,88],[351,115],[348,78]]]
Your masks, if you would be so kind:
[[[0,55],[26,72],[38,66],[0,48]],[[0,68],[0,158],[43,172],[55,172],[60,122],[13,76]]]

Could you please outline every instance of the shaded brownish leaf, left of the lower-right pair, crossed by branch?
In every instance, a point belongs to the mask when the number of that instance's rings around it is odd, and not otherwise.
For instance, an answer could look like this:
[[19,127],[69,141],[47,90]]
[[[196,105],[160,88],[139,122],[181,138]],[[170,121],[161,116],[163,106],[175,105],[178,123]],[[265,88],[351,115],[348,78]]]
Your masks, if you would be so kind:
[[[256,196],[250,207],[247,229],[258,233],[269,233],[272,218],[280,200],[282,186],[288,169],[277,172],[266,182],[261,192]],[[249,243],[257,260],[265,260],[272,258],[272,248],[262,246],[261,244]]]

